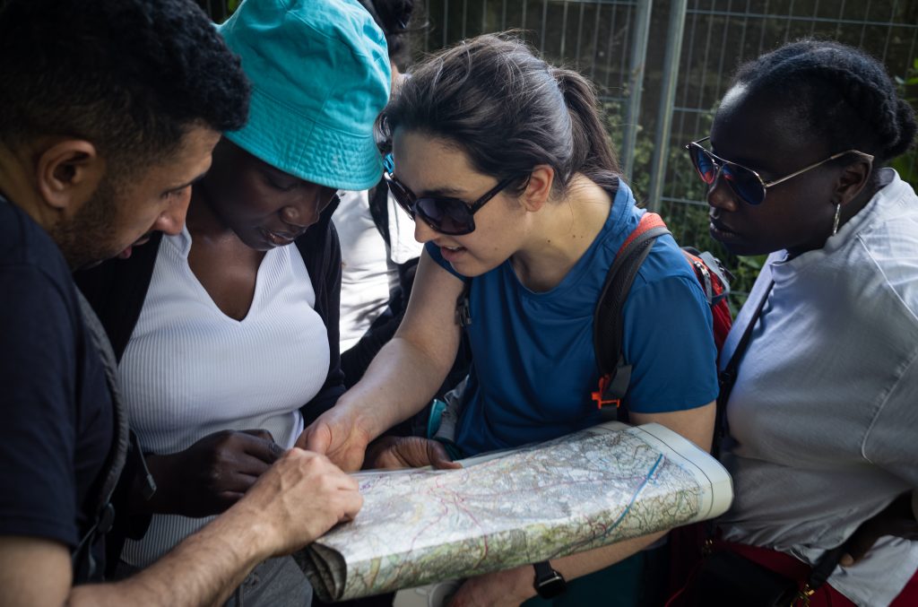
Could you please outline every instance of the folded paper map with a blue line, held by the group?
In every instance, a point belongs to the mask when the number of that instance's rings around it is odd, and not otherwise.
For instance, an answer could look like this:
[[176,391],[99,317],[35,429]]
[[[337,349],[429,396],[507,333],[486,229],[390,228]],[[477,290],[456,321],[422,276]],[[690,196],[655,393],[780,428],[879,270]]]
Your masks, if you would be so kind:
[[342,601],[570,555],[713,518],[726,470],[665,427],[608,422],[430,468],[355,475],[364,508],[306,548],[313,588]]

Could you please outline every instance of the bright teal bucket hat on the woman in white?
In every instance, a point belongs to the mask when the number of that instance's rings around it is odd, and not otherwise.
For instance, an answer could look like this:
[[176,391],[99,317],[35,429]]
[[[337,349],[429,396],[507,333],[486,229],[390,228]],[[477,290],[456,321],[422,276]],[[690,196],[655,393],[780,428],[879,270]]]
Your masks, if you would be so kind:
[[249,121],[225,137],[300,179],[379,181],[373,125],[389,96],[386,38],[356,0],[245,0],[218,26],[252,81]]

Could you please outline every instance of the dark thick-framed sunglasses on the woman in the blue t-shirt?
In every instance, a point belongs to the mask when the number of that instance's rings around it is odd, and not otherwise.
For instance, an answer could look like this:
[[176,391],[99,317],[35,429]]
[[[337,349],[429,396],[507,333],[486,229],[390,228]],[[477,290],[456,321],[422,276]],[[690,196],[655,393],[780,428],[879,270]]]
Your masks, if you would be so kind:
[[[390,164],[390,163],[387,163]],[[389,166],[383,171],[389,191],[395,197],[398,206],[404,208],[411,219],[418,217],[431,226],[431,230],[450,236],[462,236],[475,231],[475,217],[478,209],[485,206],[488,200],[510,185],[515,177],[502,180],[471,205],[452,197],[416,197],[411,190],[398,181]]]

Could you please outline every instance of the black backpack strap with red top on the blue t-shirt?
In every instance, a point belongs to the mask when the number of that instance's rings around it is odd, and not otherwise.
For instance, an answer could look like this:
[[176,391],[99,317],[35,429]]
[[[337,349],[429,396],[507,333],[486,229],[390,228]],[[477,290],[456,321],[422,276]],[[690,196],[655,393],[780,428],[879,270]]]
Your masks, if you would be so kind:
[[621,354],[625,300],[654,242],[668,233],[659,216],[645,213],[638,228],[616,253],[606,274],[599,303],[593,312],[593,349],[599,366],[599,390],[593,392],[592,397],[603,421],[621,418],[624,413],[620,410],[621,401],[631,383],[632,366]]

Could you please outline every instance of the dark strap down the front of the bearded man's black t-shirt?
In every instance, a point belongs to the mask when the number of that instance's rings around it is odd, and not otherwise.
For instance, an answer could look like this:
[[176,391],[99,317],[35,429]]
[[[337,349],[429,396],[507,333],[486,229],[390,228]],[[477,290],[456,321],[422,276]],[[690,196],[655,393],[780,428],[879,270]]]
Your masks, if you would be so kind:
[[99,564],[95,562],[92,553],[95,538],[99,535],[106,534],[115,521],[115,509],[111,505],[112,494],[118,485],[118,478],[121,476],[121,470],[124,467],[125,458],[128,454],[129,432],[128,416],[124,410],[121,401],[121,394],[118,390],[118,363],[115,359],[115,353],[112,351],[111,344],[108,343],[108,337],[102,328],[102,323],[92,306],[79,289],[75,289],[77,298],[80,301],[80,312],[83,316],[86,332],[92,339],[102,359],[102,365],[105,369],[106,384],[108,385],[109,394],[111,394],[113,411],[115,440],[112,441],[111,449],[106,457],[105,466],[99,473],[98,480],[95,483],[94,490],[89,494],[92,500],[95,495],[95,502],[90,502],[92,510],[92,519],[89,526],[81,533],[80,543],[73,551],[73,575],[74,579],[99,579],[101,570]]

